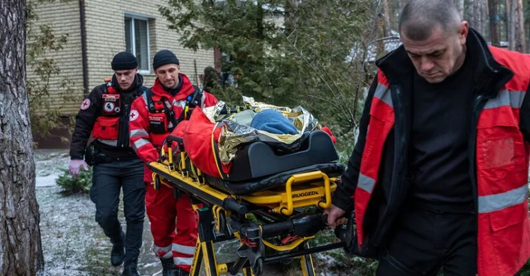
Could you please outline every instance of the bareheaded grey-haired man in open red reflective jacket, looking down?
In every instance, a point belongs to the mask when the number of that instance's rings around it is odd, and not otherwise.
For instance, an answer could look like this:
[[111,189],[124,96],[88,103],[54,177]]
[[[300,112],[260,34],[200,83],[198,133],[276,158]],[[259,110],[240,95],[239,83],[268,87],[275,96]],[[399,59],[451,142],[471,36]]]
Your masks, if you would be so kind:
[[400,34],[328,224],[355,210],[349,249],[378,258],[376,275],[516,275],[530,257],[530,55],[488,46],[452,0],[409,1]]

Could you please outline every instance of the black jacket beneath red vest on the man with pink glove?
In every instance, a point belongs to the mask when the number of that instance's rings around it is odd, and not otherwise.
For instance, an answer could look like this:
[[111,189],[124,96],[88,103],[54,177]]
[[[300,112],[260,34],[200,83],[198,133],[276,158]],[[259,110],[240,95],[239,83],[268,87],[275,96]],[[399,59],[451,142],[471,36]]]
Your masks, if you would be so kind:
[[[143,84],[144,78],[137,74],[130,90],[124,92],[119,88],[115,76],[112,76],[112,86],[119,92],[121,99],[118,146],[108,146],[99,141],[95,141],[95,148],[106,157],[112,159],[137,158],[133,148],[129,146],[129,113],[133,101],[147,90]],[[75,117],[75,129],[70,144],[71,159],[84,159],[85,148],[90,138],[90,133],[92,133],[92,128],[94,128],[97,117],[101,115],[102,95],[105,90],[106,83],[92,89],[92,92],[86,97],[86,99],[90,100],[90,106],[85,110],[79,110]]]

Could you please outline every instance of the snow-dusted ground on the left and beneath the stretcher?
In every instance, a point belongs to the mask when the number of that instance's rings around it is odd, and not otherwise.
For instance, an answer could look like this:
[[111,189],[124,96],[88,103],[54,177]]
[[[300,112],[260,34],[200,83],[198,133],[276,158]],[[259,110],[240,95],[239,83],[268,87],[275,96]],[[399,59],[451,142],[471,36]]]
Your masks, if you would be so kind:
[[[94,220],[95,205],[88,195],[63,196],[61,188],[55,184],[63,170],[68,168],[68,150],[35,150],[36,193],[41,214],[41,239],[45,260],[42,276],[59,275],[121,275],[121,267],[110,265],[112,245]],[[123,210],[120,210],[121,225],[126,230]],[[161,275],[159,260],[151,248],[149,221],[144,224],[144,244],[140,251],[139,272],[141,275]],[[218,262],[232,262],[236,258],[237,242],[216,244]],[[315,256],[316,257],[316,256]],[[319,255],[320,257],[320,255]],[[316,257],[315,262],[320,262]],[[322,255],[326,267],[333,260]],[[317,260],[319,259],[319,260]],[[316,265],[316,264],[315,264]],[[279,264],[266,266],[267,276],[301,275],[300,269],[282,272]],[[322,269],[320,269],[322,270]],[[333,275],[317,271],[318,275]],[[201,275],[205,275],[204,269]]]

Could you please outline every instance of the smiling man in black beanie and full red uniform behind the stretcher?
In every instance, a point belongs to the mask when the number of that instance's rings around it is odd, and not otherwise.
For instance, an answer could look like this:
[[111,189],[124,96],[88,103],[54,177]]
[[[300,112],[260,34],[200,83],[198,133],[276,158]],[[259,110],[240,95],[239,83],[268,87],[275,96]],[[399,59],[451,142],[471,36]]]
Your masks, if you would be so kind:
[[[192,103],[196,102],[204,108],[217,103],[213,95],[202,92],[180,73],[179,60],[173,52],[157,52],[153,69],[157,75],[155,85],[134,101],[129,117],[130,144],[144,162],[157,161],[164,139],[180,121],[188,119],[183,112],[186,105],[193,108]],[[152,173],[146,167],[146,209],[155,242],[153,250],[161,260],[164,276],[188,275],[197,242],[197,214],[187,195],[175,199],[172,188],[161,185],[155,190],[152,181]]]

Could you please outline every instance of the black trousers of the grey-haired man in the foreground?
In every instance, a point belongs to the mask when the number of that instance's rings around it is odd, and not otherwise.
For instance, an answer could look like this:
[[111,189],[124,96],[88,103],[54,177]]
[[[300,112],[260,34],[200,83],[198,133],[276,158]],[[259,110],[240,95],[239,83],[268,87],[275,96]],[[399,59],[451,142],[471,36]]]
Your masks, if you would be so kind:
[[380,258],[377,276],[477,273],[477,215],[407,207]]

